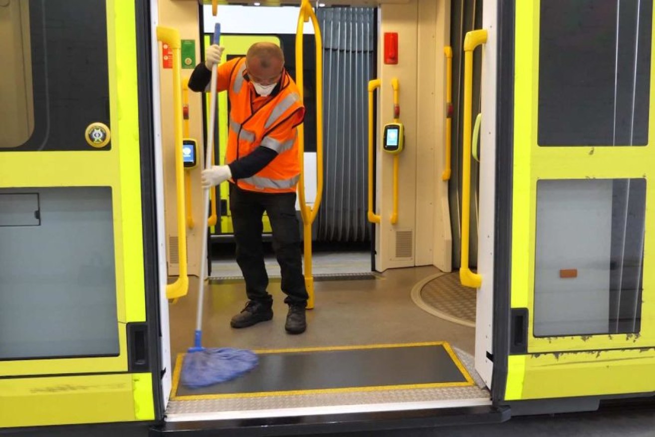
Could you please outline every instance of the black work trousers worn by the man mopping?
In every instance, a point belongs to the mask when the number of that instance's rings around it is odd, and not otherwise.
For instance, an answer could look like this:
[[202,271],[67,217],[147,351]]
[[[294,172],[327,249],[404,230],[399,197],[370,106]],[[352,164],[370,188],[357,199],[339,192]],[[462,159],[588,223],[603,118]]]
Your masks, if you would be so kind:
[[269,276],[264,265],[261,233],[263,213],[269,216],[273,250],[282,273],[284,303],[307,305],[307,289],[300,251],[300,229],[295,215],[295,193],[256,193],[230,183],[230,211],[236,240],[236,263],[246,280],[252,301],[272,302],[267,292]]

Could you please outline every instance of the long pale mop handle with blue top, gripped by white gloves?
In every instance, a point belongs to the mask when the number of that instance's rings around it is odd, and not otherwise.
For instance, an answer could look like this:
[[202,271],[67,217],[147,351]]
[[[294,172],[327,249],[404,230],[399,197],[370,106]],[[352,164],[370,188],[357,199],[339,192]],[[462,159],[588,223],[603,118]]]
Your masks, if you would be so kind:
[[[214,28],[213,44],[218,44],[221,39],[221,24],[216,23]],[[207,127],[207,146],[205,151],[204,168],[210,170],[212,168],[212,153],[214,152],[214,124],[216,123],[216,81],[217,81],[217,64],[212,66],[212,82],[210,85],[210,117],[209,125]],[[218,127],[218,126],[216,126]],[[204,216],[203,216],[203,233],[202,233],[202,257],[200,257],[200,276],[198,277],[198,309],[196,314],[196,332],[195,332],[195,346],[202,345],[202,304],[204,301],[204,279],[207,269],[207,233],[209,227],[207,225],[207,218],[209,217],[209,200],[210,189],[212,187],[204,188]]]

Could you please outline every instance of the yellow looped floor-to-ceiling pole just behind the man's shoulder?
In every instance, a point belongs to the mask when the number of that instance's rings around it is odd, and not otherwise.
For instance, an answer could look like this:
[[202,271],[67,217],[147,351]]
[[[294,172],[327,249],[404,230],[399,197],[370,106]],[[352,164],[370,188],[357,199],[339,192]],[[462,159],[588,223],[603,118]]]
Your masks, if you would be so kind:
[[295,33],[295,75],[296,85],[303,99],[303,29],[305,23],[312,20],[314,39],[316,41],[316,199],[309,208],[305,200],[305,130],[303,124],[298,126],[298,157],[300,161],[300,180],[298,183],[298,200],[300,215],[303,218],[303,243],[305,248],[305,287],[309,299],[307,309],[314,308],[314,278],[312,276],[312,223],[318,214],[323,196],[323,45],[321,29],[314,9],[308,0],[302,0]]

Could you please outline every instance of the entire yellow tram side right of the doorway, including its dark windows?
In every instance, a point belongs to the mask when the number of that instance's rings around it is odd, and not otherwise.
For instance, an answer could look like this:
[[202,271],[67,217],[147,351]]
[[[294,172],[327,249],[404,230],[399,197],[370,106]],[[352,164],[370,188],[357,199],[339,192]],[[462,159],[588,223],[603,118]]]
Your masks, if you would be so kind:
[[515,15],[506,398],[652,392],[652,5]]

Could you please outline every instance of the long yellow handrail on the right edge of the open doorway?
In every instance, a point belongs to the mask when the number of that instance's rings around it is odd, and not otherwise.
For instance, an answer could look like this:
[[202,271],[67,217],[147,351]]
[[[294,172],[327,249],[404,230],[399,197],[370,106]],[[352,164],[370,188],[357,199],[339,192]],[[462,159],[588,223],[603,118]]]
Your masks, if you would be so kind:
[[473,51],[487,42],[484,29],[466,33],[464,38],[464,132],[462,150],[462,250],[459,278],[463,286],[479,288],[482,276],[473,273],[468,267],[468,242],[470,238],[471,202],[471,117],[473,96]]

